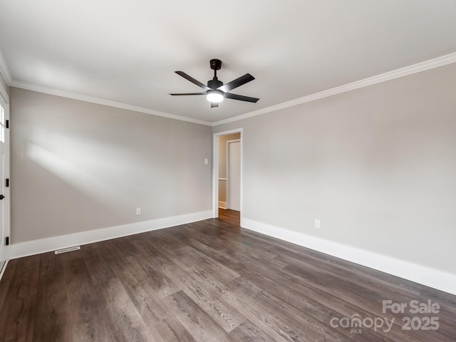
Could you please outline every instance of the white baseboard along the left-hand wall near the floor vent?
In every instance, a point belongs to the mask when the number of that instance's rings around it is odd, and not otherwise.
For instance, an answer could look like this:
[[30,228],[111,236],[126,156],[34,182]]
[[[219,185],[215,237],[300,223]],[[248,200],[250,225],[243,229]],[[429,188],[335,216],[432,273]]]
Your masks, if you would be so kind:
[[207,210],[205,212],[152,219],[145,222],[123,224],[121,226],[89,230],[87,232],[62,235],[60,237],[49,237],[47,239],[10,244],[9,257],[10,259],[17,259],[29,255],[52,252],[56,249],[68,248],[81,244],[91,244],[93,242],[115,239],[116,237],[126,237],[128,235],[150,232],[151,230],[178,226],[180,224],[201,221],[202,219],[210,219],[211,217],[212,211]]

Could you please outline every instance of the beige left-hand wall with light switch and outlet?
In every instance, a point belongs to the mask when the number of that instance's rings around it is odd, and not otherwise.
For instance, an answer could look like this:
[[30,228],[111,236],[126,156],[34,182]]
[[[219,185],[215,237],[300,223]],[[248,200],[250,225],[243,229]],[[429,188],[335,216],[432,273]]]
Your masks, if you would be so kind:
[[19,88],[10,98],[13,243],[211,209],[209,126]]

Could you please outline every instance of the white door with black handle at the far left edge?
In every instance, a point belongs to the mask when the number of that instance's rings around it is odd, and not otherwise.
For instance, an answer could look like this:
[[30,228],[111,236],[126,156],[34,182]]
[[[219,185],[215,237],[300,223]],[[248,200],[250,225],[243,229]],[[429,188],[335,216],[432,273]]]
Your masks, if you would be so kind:
[[8,236],[8,206],[6,194],[8,188],[5,187],[5,175],[8,163],[8,134],[6,132],[7,106],[4,98],[0,94],[0,271],[6,261],[6,237]]

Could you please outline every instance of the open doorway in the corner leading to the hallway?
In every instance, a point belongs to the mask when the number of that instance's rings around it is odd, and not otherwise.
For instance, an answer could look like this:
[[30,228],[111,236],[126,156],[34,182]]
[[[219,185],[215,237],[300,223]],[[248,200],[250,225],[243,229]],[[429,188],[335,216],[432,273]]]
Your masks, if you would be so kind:
[[242,216],[242,130],[214,134],[213,217],[240,226]]

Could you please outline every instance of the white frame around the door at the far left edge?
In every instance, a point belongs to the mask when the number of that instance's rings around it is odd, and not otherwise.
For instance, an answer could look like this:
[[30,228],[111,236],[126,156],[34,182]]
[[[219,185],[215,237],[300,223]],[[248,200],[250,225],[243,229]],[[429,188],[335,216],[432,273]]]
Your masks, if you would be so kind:
[[[0,76],[1,77],[1,76]],[[6,93],[6,90],[3,88],[3,86],[0,85],[0,98],[4,102],[4,110],[5,110],[5,123],[6,120],[9,120],[9,95]],[[6,178],[9,178],[9,128],[5,128],[5,160],[4,160],[4,179],[0,180],[0,182],[5,182]],[[11,205],[11,199],[10,199],[10,188],[4,186],[4,196],[5,198],[3,199],[5,201],[4,204],[4,224],[5,224],[5,237],[11,237],[11,231],[10,231],[10,205]],[[4,239],[5,237],[1,237],[1,239]],[[5,241],[2,241],[1,244],[4,244]],[[11,239],[10,242],[11,244]],[[1,276],[3,276],[4,271],[6,269],[6,265],[8,264],[9,261],[9,246],[5,246],[6,248],[6,255],[5,255],[5,264],[3,265],[3,268],[1,268],[0,265],[0,279]]]

